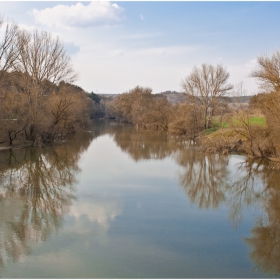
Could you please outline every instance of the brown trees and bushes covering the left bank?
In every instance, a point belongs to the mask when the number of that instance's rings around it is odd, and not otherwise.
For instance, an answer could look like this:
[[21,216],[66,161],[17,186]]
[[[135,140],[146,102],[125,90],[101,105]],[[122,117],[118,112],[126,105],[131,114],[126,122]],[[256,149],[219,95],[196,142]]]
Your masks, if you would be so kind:
[[0,42],[2,142],[54,141],[87,125],[90,99],[71,83],[77,78],[59,38],[5,23]]

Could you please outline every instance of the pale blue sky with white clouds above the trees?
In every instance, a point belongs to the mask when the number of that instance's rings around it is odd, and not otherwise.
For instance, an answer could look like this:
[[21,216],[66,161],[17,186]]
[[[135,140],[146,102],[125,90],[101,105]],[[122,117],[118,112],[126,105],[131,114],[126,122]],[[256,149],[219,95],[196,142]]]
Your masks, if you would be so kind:
[[181,91],[193,67],[207,63],[256,94],[256,58],[280,50],[280,2],[0,1],[0,14],[59,36],[75,84],[94,93]]

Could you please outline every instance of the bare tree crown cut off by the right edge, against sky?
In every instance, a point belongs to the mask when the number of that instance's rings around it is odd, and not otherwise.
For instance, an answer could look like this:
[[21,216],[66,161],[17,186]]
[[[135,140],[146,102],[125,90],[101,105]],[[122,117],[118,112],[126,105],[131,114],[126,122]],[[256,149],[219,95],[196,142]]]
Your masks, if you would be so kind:
[[257,58],[257,69],[251,73],[251,77],[257,78],[261,89],[267,93],[280,91],[280,50],[271,56],[267,54]]

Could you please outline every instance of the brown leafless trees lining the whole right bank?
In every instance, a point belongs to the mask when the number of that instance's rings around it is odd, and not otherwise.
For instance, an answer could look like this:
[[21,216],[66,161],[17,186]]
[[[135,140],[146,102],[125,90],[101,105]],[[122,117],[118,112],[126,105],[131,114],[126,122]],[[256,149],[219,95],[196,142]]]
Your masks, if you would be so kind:
[[[151,88],[137,86],[106,102],[104,110],[107,116],[130,122],[136,128],[163,130],[192,139],[213,127],[215,116],[216,122],[218,119],[220,123],[230,123],[236,136],[234,141],[243,143],[243,152],[252,157],[279,158],[280,51],[258,57],[257,63],[251,77],[259,81],[261,93],[252,98],[249,108],[229,109],[225,98],[233,95],[240,103],[244,95],[242,83],[236,87],[228,83],[229,73],[221,65],[202,64],[182,80],[186,97],[182,103],[172,104],[165,97],[152,94]],[[264,116],[265,126],[251,123],[256,114]],[[210,146],[227,146],[225,137],[214,142],[204,141]]]

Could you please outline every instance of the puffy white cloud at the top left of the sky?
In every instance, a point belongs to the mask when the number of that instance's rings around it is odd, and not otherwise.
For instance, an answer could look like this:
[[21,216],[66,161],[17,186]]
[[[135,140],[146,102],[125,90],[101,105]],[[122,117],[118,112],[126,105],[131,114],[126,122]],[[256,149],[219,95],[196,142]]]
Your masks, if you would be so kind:
[[57,5],[43,10],[33,9],[29,14],[37,23],[48,27],[70,29],[114,25],[123,19],[124,9],[110,2],[90,2],[88,5]]

